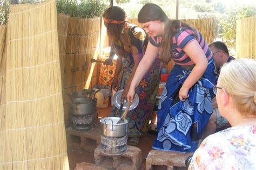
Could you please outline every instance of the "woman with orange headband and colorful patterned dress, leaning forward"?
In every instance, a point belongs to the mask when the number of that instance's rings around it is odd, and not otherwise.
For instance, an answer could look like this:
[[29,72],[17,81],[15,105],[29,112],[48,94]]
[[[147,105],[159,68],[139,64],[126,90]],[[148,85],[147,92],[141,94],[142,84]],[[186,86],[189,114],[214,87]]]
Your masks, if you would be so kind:
[[[115,51],[118,55],[112,88],[114,90],[124,89],[122,96],[124,98],[137,66],[143,58],[146,33],[141,27],[128,23],[125,11],[118,6],[111,6],[107,9],[103,14],[103,19],[107,36],[111,41],[111,53]],[[156,58],[152,63],[145,76],[142,77],[142,81],[139,82],[137,89],[139,104],[126,116],[129,121],[128,137],[140,137],[147,132],[159,86],[160,59]],[[112,116],[118,116],[118,109],[114,106]]]

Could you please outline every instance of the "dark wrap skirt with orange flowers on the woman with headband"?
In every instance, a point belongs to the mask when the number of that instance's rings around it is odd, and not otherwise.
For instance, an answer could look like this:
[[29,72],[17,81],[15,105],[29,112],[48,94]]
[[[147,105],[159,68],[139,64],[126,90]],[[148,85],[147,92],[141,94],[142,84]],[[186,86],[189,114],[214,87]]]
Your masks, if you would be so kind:
[[[123,68],[120,73],[118,89],[124,89],[125,84],[129,80],[131,70],[134,66],[133,56],[126,53],[123,57]],[[140,137],[147,132],[149,128],[149,121],[153,112],[154,103],[156,101],[156,95],[159,87],[159,74],[160,74],[160,59],[159,57],[153,62],[151,68],[147,71],[146,75],[140,81],[137,94],[139,96],[138,106],[128,111],[126,119],[128,123],[128,137]],[[119,109],[112,108],[111,115],[118,115]]]

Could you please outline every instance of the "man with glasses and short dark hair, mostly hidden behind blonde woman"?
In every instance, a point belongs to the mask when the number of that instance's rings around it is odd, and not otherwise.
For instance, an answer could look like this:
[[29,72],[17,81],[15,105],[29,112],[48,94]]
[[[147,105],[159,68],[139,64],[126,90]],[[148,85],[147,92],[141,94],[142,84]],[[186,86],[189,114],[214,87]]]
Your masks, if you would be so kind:
[[[221,41],[215,41],[212,42],[209,45],[212,55],[214,58],[215,66],[217,68],[217,74],[220,73],[220,68],[226,63],[234,60],[233,56],[230,56],[230,53],[228,52],[227,46],[224,42]],[[214,87],[213,90],[216,90],[216,87]],[[227,119],[222,117],[219,113],[218,105],[216,102],[216,98],[213,98],[212,100],[212,116],[210,117],[206,129],[204,131],[204,134],[201,139],[206,138],[208,135],[214,133],[217,129],[226,129],[230,126]]]

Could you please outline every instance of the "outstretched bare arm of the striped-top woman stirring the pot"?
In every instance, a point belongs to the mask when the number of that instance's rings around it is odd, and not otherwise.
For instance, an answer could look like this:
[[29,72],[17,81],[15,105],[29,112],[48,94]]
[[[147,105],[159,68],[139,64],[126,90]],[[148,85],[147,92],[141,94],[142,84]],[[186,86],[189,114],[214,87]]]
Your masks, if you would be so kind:
[[127,93],[128,102],[133,101],[133,98],[135,95],[135,89],[139,85],[139,82],[142,80],[143,76],[147,73],[147,70],[149,70],[149,68],[151,67],[154,60],[157,58],[158,51],[159,51],[159,47],[153,46],[149,41],[149,43],[147,44],[146,52],[142,60],[140,60],[137,68],[134,66],[136,70],[134,69],[132,73],[133,75],[131,75],[133,79],[130,83],[129,92]]

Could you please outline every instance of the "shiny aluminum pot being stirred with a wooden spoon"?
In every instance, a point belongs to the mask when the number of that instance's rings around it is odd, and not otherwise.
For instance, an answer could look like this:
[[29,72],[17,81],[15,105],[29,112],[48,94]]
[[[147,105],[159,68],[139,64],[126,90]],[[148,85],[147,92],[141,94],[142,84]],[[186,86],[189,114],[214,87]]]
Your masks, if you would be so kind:
[[104,117],[100,119],[100,133],[108,137],[123,137],[128,131],[128,121],[124,119],[124,123],[117,122],[120,117]]

